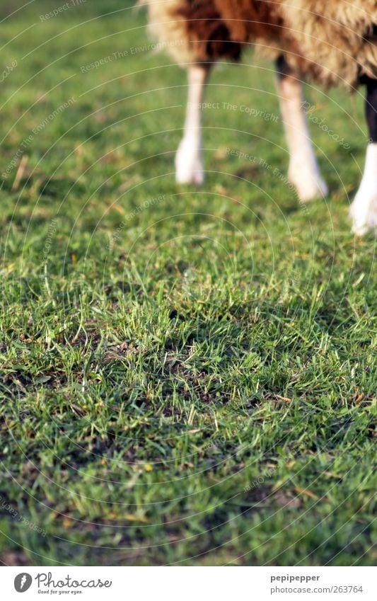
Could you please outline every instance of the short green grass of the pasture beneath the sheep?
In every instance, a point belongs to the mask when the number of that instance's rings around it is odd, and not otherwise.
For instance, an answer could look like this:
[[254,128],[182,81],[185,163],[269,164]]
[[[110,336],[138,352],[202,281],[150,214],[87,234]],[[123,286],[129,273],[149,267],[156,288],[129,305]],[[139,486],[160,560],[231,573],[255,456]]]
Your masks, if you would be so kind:
[[180,188],[185,74],[130,53],[143,13],[101,4],[1,23],[1,173],[29,139],[0,191],[1,561],[371,565],[376,241],[347,217],[362,98],[308,86],[349,146],[312,122],[331,195],[303,207],[280,118],[240,109],[279,115],[271,65],[221,65],[207,183]]

